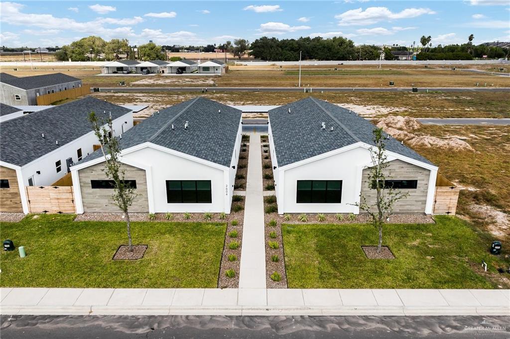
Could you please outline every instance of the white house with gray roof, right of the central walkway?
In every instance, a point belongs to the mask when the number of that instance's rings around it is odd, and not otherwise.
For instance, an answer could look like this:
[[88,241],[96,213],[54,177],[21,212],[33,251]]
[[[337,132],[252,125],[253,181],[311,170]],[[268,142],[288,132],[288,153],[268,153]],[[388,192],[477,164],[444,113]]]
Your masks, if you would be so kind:
[[[353,111],[305,98],[269,111],[269,142],[278,213],[354,213],[369,188],[373,130]],[[394,213],[432,213],[438,167],[388,137],[388,185],[409,193]]]

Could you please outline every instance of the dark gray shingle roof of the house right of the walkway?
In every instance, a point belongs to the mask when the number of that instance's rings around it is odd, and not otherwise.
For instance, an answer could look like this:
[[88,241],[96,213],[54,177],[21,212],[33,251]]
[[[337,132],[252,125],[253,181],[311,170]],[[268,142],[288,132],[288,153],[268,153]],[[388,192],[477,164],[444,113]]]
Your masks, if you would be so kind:
[[[291,113],[289,114],[289,108]],[[364,142],[374,145],[370,121],[348,109],[308,97],[269,111],[278,166],[289,165],[338,148]],[[326,129],[322,130],[322,122]],[[330,131],[333,126],[333,131]],[[386,140],[386,149],[432,164],[398,140]]]

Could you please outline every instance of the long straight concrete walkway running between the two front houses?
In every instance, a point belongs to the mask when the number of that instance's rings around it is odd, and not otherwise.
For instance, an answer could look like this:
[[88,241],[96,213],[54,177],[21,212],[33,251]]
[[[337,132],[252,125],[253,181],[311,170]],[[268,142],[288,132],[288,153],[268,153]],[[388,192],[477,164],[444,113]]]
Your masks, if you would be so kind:
[[250,134],[248,175],[241,242],[240,289],[266,288],[266,248],[264,238],[264,196],[260,135]]

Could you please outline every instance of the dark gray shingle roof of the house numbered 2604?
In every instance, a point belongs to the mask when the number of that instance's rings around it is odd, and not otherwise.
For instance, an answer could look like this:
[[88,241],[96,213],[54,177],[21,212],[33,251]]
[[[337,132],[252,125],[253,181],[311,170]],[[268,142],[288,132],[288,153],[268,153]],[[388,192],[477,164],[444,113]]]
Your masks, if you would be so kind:
[[[125,149],[151,142],[229,167],[236,146],[241,113],[222,103],[196,97],[146,118],[122,135],[120,145]],[[186,121],[189,123],[188,129],[184,129]],[[82,162],[102,156],[96,151]]]

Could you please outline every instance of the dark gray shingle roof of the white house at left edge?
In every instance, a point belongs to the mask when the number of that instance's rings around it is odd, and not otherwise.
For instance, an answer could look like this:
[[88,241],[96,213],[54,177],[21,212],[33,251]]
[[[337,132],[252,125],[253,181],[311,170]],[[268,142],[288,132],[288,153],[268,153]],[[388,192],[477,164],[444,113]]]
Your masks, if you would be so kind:
[[[0,123],[0,160],[23,166],[92,131],[90,112],[114,119],[131,110],[85,97]],[[106,114],[104,114],[106,111]],[[42,134],[44,133],[44,138]],[[59,144],[56,144],[58,140]]]

